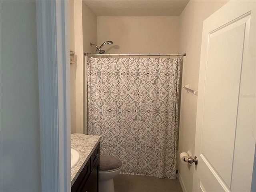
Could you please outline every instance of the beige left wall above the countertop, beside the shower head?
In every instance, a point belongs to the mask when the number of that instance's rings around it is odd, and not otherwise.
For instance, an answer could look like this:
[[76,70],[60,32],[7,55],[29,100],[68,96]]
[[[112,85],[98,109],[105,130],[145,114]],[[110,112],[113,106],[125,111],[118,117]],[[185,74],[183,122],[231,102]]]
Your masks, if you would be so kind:
[[85,133],[86,67],[84,52],[92,52],[90,41],[97,40],[97,17],[80,0],[69,1],[70,50],[75,52],[70,64],[71,133]]

